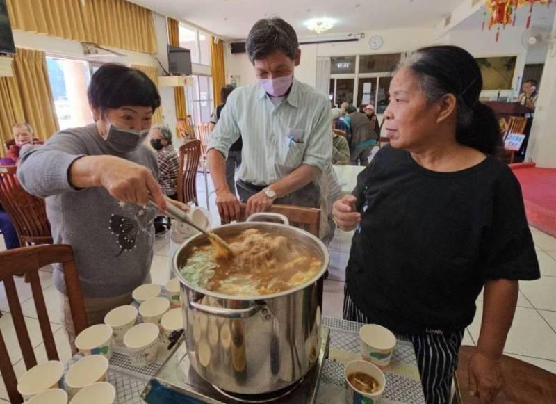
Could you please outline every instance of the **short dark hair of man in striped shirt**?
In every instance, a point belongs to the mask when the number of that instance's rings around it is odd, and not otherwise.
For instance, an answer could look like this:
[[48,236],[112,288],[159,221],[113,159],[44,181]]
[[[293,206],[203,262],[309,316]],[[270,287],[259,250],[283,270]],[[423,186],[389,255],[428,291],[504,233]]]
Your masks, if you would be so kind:
[[245,43],[251,63],[275,52],[284,52],[288,58],[295,59],[299,41],[293,26],[279,17],[264,18],[257,21]]

